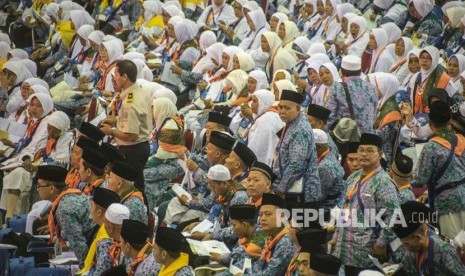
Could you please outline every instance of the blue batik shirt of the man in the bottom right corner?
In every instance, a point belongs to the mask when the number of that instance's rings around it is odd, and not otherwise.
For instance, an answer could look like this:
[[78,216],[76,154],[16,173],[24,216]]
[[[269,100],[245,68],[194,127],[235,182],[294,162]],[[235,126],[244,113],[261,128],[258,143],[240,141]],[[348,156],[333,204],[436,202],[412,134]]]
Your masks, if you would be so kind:
[[[441,240],[436,233],[429,231],[430,243],[434,241],[434,258],[432,265],[434,272],[429,271],[429,258],[426,257],[423,266],[423,275],[451,276],[465,275],[465,266],[460,261],[455,249],[447,242]],[[400,267],[407,275],[420,275],[417,269],[416,253],[407,251]],[[434,274],[433,274],[434,273]]]

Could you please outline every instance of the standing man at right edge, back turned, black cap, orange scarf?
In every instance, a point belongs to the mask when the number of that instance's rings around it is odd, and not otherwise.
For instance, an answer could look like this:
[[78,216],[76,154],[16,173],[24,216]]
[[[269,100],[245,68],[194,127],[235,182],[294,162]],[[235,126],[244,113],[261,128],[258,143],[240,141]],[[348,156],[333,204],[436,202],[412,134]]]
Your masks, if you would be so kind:
[[465,229],[465,138],[450,127],[446,103],[430,107],[433,138],[423,147],[413,176],[413,186],[427,186],[429,205],[439,215],[444,236],[453,239]]

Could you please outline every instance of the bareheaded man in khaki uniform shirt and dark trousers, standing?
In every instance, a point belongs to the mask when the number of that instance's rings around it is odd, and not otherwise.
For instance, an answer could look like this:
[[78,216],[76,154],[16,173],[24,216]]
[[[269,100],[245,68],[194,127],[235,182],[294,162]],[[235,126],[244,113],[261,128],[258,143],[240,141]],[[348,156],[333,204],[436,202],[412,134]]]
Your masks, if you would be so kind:
[[137,67],[130,60],[116,63],[113,75],[117,94],[111,102],[111,115],[102,121],[101,130],[115,138],[126,161],[137,170],[134,185],[144,191],[144,167],[150,155],[148,142],[152,130],[152,101],[137,84]]

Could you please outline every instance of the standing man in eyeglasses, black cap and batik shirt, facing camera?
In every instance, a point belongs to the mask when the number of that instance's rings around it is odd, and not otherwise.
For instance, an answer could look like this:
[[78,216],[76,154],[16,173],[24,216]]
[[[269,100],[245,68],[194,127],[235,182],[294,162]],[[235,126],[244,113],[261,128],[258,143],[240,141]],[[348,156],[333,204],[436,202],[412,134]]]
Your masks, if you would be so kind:
[[[380,165],[381,143],[382,139],[375,134],[362,134],[358,147],[361,170],[347,179],[343,200],[341,219],[345,225],[337,225],[330,242],[336,245],[334,255],[341,260],[348,276],[373,266],[368,255],[385,259],[386,247],[394,240],[387,228],[382,229],[378,223],[364,223],[373,219],[371,214],[384,212],[380,218],[388,226],[400,204],[395,184]],[[365,217],[368,214],[370,218]]]

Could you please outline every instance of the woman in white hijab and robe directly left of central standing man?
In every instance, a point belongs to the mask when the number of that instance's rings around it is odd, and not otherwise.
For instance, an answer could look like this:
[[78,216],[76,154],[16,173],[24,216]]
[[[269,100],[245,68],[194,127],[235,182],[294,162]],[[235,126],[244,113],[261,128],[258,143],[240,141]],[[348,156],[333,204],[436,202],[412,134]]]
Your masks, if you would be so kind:
[[255,153],[257,160],[268,166],[274,159],[274,151],[279,138],[276,133],[284,127],[277,109],[273,107],[274,94],[269,90],[258,90],[252,95],[254,120],[246,133],[246,145]]

